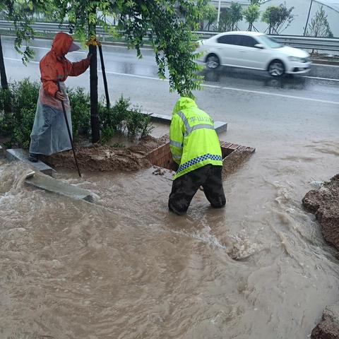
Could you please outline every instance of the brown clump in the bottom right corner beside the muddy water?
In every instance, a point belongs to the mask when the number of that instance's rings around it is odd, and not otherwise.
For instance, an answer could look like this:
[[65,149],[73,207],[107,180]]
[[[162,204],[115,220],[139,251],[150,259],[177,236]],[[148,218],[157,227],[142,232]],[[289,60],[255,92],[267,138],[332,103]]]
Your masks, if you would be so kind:
[[313,329],[311,339],[339,339],[339,305],[323,311],[322,321]]

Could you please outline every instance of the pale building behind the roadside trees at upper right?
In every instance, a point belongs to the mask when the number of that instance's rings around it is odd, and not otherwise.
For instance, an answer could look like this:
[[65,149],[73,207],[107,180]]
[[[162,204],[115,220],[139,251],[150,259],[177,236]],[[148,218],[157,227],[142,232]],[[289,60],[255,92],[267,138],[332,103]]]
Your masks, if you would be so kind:
[[[215,8],[218,8],[218,0],[212,0],[210,2],[215,6]],[[250,3],[250,1],[247,0],[234,0],[234,2],[242,4],[244,8],[246,8],[246,6],[248,6]],[[223,8],[230,7],[231,3],[232,1],[221,0],[221,10]],[[260,11],[265,11],[268,6],[279,6],[280,4],[285,4],[287,8],[295,7],[292,11],[292,14],[295,15],[294,20],[292,21],[290,26],[287,27],[286,30],[284,30],[280,34],[303,35],[311,0],[266,0],[261,3]],[[327,20],[334,37],[339,37],[339,0],[313,0],[311,13],[309,16],[309,23],[311,22],[311,18],[314,17],[316,11],[318,11],[321,6],[323,6],[323,9],[328,16]],[[244,21],[238,24],[239,30],[246,30],[247,26],[248,25]],[[262,23],[261,21],[254,23],[254,26],[260,32],[264,32],[267,28],[266,23]]]

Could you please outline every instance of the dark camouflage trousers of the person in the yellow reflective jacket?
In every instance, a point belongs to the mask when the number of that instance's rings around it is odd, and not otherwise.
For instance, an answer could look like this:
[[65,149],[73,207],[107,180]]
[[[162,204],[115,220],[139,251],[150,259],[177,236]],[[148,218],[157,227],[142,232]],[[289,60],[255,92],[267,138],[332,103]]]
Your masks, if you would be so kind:
[[222,187],[221,171],[222,166],[206,165],[175,179],[171,194],[169,194],[169,210],[178,215],[186,213],[200,186],[203,187],[203,192],[212,207],[225,206],[226,198]]

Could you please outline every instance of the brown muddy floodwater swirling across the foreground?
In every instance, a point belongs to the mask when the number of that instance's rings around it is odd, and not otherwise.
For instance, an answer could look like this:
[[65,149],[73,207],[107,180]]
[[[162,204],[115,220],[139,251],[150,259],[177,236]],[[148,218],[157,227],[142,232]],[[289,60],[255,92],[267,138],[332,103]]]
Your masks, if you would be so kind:
[[169,172],[59,172],[93,205],[0,160],[0,338],[308,338],[339,266],[301,200],[338,172],[338,137],[227,136],[256,153],[225,180],[225,209],[198,191],[183,217]]

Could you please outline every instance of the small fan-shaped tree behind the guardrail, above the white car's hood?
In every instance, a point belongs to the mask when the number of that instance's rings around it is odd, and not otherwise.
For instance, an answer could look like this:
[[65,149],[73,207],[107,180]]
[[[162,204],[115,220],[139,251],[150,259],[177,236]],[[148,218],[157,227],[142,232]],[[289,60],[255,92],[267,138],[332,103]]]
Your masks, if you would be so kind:
[[268,24],[268,34],[280,34],[291,23],[295,16],[292,14],[294,7],[287,8],[284,4],[268,6],[263,12],[262,20]]

